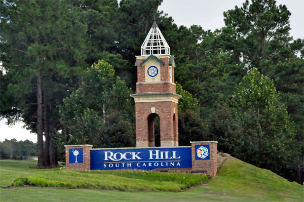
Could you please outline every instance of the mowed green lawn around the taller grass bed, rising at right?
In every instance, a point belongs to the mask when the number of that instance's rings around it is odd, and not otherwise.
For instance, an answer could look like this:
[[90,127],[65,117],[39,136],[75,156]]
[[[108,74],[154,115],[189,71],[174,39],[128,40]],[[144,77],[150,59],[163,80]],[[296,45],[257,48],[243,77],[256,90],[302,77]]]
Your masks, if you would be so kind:
[[[202,186],[188,189],[182,192],[126,192],[94,189],[67,189],[67,188],[41,188],[18,187],[4,188],[13,183],[17,178],[30,178],[30,176],[54,177],[59,173],[70,175],[63,169],[34,170],[36,161],[26,160],[1,160],[0,161],[0,200],[1,201],[303,201],[303,186],[295,182],[288,182],[269,170],[259,169],[244,163],[236,158],[227,159],[218,175],[212,181]],[[74,171],[71,171],[74,172]],[[111,171],[113,172],[113,171]],[[80,172],[83,173],[83,172]],[[84,172],[85,173],[85,172]],[[136,173],[136,172],[135,172]],[[171,180],[153,179],[147,180],[143,175],[130,173],[128,175],[118,171],[113,175],[113,180],[120,184],[121,180],[143,180],[151,186],[160,186],[164,182],[171,184]],[[153,173],[153,172],[150,172]],[[76,173],[78,174],[78,173]],[[166,174],[166,173],[164,173]],[[98,172],[86,174],[88,177],[102,175]],[[107,173],[110,175],[110,173]],[[170,175],[170,174],[167,174]],[[184,175],[184,174],[183,174]],[[171,176],[170,176],[171,177]],[[70,178],[70,177],[63,177]],[[86,176],[82,176],[82,179]],[[90,177],[89,177],[90,178]],[[182,184],[182,179],[177,177],[177,184]],[[80,183],[80,182],[77,182]],[[138,184],[135,181],[136,186]],[[167,186],[167,185],[166,185]],[[173,186],[172,184],[170,186]],[[174,190],[173,190],[174,191]]]

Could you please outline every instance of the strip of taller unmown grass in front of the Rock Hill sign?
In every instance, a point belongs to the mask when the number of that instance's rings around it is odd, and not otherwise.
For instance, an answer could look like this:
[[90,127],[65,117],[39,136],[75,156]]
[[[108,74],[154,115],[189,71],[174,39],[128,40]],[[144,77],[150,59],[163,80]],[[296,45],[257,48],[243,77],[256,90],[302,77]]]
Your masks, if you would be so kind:
[[60,169],[22,176],[12,186],[104,189],[119,191],[182,191],[206,182],[209,176],[153,171],[80,171]]

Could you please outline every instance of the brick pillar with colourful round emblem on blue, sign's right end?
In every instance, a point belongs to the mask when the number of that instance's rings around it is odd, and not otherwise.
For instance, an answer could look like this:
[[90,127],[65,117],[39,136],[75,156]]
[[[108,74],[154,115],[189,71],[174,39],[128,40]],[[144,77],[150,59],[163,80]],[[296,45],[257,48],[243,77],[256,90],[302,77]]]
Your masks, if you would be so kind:
[[[190,142],[192,150],[192,170],[193,171],[207,171],[206,174],[215,176],[217,172],[217,141],[201,141],[201,142]],[[203,146],[204,148],[209,147],[209,155],[201,157],[197,156],[197,149]],[[206,153],[205,153],[206,154]]]

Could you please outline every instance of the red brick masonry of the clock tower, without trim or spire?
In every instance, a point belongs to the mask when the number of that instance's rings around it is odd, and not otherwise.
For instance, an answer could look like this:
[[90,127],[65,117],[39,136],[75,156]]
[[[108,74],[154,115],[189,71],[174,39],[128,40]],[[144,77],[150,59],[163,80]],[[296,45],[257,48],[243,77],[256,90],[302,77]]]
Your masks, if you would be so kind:
[[[172,68],[172,82],[170,83],[170,69],[168,56],[160,57],[164,65],[160,67],[161,82],[146,82],[145,81],[145,65],[140,64],[144,61],[142,57],[137,58],[137,84],[136,93],[158,93],[170,92],[176,93],[176,86],[174,84],[174,68]],[[157,61],[155,61],[157,62]],[[155,101],[145,101],[135,103],[136,116],[136,146],[148,147],[155,145],[154,129],[149,131],[149,128],[154,128],[153,118],[148,119],[151,114],[151,108],[155,108],[155,113],[160,117],[160,131],[161,131],[161,146],[178,146],[178,114],[177,103],[173,101],[160,101],[158,95],[155,96]],[[156,116],[155,114],[153,116]],[[150,137],[149,137],[150,134]],[[153,136],[153,135],[152,135]]]

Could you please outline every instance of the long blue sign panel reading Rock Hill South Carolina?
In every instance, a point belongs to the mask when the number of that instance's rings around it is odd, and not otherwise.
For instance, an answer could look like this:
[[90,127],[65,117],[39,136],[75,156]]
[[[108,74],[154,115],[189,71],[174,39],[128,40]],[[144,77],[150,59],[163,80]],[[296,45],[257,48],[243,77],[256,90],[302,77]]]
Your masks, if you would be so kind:
[[192,168],[191,147],[91,150],[91,170],[166,168]]

